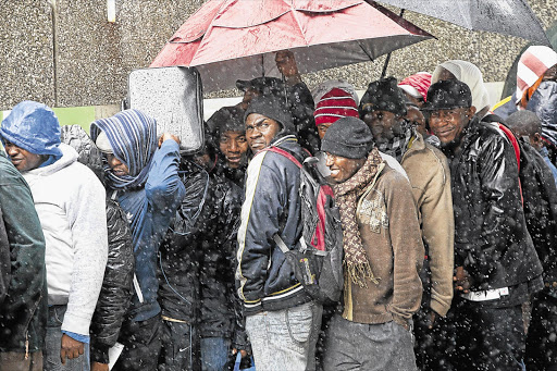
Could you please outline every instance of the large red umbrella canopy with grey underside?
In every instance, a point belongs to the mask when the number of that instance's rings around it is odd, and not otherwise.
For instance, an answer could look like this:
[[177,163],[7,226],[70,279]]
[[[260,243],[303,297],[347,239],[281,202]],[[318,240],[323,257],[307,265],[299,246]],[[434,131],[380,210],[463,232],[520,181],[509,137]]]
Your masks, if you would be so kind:
[[300,73],[366,62],[433,36],[363,0],[211,0],[174,34],[151,67],[196,66],[203,90],[275,76],[275,52]]

